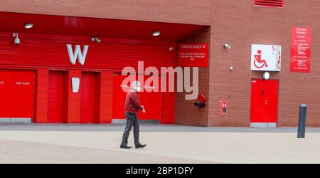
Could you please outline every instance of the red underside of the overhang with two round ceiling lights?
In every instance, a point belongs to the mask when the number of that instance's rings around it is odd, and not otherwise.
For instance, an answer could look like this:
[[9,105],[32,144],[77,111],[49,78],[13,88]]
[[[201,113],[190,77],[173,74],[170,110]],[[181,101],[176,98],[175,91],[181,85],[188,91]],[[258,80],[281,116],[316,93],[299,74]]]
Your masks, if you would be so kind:
[[[33,28],[25,28],[26,23],[33,23]],[[178,41],[203,28],[206,26],[0,12],[0,31],[3,32]],[[153,31],[161,31],[161,35],[152,36]]]

